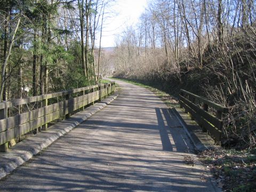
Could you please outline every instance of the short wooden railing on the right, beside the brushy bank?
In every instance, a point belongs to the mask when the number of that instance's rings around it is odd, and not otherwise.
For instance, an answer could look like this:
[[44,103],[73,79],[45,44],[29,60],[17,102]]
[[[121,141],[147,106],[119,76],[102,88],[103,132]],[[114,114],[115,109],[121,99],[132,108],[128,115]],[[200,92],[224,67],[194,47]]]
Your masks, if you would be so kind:
[[[186,90],[180,90],[179,103],[203,127],[203,131],[209,132],[214,141],[220,144],[222,114],[228,113],[228,108]],[[209,112],[209,107],[213,113]]]

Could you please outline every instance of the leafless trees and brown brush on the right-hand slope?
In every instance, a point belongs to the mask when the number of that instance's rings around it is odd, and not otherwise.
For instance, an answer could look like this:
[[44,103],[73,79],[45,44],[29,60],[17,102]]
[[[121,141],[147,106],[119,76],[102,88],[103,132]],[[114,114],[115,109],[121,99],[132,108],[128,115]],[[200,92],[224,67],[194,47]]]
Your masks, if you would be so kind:
[[115,49],[115,76],[176,94],[186,89],[229,108],[226,145],[256,144],[256,3],[149,1]]

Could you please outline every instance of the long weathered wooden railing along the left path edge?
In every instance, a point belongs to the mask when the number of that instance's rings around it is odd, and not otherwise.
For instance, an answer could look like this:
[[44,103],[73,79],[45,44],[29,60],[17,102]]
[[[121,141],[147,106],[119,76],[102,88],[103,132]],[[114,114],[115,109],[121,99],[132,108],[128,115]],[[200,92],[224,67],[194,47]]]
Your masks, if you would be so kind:
[[[114,91],[115,82],[111,82],[0,102],[0,150],[6,151],[9,141],[31,130],[38,131],[38,127],[46,130],[48,123],[68,118],[75,110],[100,101]],[[16,114],[8,117],[15,110]]]

